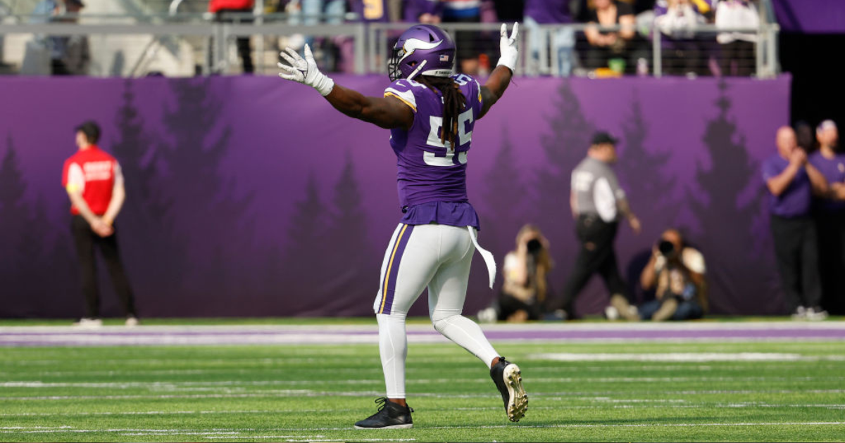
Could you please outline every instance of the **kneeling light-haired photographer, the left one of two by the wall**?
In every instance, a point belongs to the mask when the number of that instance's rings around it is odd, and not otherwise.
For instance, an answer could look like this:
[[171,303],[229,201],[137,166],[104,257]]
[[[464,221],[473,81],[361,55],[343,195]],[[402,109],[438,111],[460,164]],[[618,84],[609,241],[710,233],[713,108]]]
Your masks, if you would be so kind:
[[537,226],[526,224],[516,235],[516,249],[504,256],[504,284],[499,299],[478,313],[480,321],[539,320],[548,299],[548,272],[552,258],[548,240]]

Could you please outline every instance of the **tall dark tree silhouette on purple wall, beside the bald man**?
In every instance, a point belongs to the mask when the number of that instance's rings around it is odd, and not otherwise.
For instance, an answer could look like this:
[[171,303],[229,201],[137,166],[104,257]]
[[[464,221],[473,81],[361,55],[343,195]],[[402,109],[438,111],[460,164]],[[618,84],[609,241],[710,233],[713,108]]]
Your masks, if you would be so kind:
[[732,103],[727,89],[723,82],[719,85],[719,114],[707,123],[702,138],[711,167],[705,170],[700,165],[695,174],[706,201],[690,202],[701,224],[701,237],[694,240],[699,240],[710,265],[711,311],[763,313],[761,310],[771,307],[761,306],[759,299],[748,296],[762,289],[766,270],[771,268],[768,257],[755,253],[755,240],[760,235],[754,228],[760,193],[748,203],[739,203],[739,196],[760,181],[760,174],[749,157],[744,136],[729,117]]

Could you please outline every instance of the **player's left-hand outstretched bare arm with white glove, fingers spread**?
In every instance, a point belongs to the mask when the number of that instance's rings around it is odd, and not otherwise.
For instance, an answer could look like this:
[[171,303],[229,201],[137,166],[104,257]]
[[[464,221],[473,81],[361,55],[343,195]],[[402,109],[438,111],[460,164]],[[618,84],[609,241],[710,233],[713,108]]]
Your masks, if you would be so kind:
[[279,76],[317,89],[336,110],[363,122],[379,127],[408,129],[414,122],[414,113],[408,105],[394,97],[367,97],[355,90],[345,88],[319,72],[311,48],[305,46],[305,58],[297,51],[286,48],[281,52],[290,66],[279,63]]

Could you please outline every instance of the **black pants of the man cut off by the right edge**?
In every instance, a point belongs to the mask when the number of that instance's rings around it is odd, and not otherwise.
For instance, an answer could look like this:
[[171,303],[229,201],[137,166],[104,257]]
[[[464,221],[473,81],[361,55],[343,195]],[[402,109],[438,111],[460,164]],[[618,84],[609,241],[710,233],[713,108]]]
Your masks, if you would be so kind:
[[831,314],[845,311],[845,211],[818,212],[821,305]]

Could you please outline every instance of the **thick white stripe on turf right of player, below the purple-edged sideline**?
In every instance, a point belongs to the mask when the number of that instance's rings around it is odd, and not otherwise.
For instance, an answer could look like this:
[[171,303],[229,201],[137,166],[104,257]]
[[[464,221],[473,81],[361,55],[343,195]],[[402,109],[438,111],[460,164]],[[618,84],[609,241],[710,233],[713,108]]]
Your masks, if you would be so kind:
[[556,361],[689,361],[704,363],[711,361],[818,361],[841,360],[842,355],[805,356],[801,354],[782,353],[649,353],[649,354],[572,354],[547,353],[529,354],[528,359],[544,359]]

